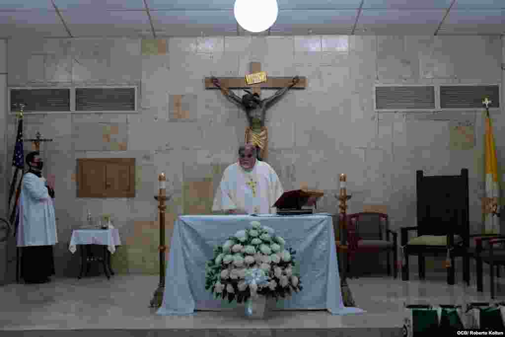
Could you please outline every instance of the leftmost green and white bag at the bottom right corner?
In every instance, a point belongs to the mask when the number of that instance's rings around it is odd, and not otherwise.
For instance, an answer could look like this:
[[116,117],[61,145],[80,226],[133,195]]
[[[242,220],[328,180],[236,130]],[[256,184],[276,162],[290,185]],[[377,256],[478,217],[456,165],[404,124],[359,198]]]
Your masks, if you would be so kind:
[[427,336],[438,331],[440,320],[437,309],[430,305],[407,305],[406,310],[404,336]]

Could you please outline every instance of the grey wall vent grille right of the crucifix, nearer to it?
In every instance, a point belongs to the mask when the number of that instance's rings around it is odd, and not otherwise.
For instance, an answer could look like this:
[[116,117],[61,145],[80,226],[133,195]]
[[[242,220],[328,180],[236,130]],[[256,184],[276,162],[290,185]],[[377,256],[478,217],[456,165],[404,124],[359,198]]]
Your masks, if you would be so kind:
[[376,110],[435,109],[434,86],[376,86]]

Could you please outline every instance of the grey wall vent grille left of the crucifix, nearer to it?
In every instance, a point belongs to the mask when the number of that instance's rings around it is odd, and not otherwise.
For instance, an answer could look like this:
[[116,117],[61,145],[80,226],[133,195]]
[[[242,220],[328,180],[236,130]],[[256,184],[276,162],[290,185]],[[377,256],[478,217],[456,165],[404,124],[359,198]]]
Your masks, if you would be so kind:
[[76,88],[76,111],[135,111],[135,88]]

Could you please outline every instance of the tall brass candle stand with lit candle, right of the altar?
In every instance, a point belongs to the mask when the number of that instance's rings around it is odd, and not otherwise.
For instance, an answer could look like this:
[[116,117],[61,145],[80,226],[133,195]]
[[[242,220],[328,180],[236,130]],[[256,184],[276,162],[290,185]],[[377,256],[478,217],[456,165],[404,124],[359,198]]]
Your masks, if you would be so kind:
[[346,307],[355,307],[356,304],[354,299],[352,299],[352,293],[350,292],[349,285],[347,284],[347,254],[349,254],[349,248],[347,245],[347,201],[350,200],[351,196],[347,195],[347,176],[345,174],[340,174],[340,192],[338,196],[335,196],[340,204],[339,208],[339,228],[340,228],[340,244],[341,247],[347,247],[345,253],[343,253],[342,258],[342,272],[340,273],[340,288],[342,290],[342,299]]

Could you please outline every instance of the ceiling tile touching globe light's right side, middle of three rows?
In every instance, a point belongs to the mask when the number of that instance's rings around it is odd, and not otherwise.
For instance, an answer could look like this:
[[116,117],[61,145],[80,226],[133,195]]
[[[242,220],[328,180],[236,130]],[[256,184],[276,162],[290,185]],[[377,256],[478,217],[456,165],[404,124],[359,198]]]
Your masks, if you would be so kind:
[[358,11],[339,10],[339,11],[279,11],[277,25],[325,25],[325,24],[354,24]]

